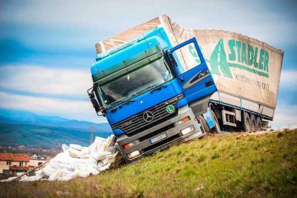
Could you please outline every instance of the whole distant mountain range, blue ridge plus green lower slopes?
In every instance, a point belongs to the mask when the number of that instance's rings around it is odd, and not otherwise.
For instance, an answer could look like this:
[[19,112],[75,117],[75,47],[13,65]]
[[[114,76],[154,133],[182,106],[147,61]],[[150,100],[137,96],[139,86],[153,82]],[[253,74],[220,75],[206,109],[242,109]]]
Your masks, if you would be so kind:
[[[0,145],[52,148],[60,144],[88,146],[91,122],[0,108]],[[112,134],[108,123],[94,124],[94,138]]]

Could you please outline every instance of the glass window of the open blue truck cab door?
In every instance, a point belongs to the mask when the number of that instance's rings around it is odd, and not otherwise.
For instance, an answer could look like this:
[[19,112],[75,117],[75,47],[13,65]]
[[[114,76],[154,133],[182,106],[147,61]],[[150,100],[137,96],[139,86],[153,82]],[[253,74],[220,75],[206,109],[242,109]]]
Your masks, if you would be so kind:
[[201,64],[196,46],[189,43],[172,52],[178,75],[181,75]]

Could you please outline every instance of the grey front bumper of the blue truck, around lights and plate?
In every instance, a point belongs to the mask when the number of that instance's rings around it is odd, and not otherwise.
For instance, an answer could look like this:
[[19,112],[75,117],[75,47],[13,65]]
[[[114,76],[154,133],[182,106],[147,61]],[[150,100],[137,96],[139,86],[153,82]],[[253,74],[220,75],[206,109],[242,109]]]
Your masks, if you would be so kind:
[[[177,121],[179,121],[187,116],[190,117],[190,120],[188,122],[178,125]],[[161,124],[155,125],[155,126],[149,128],[148,130],[138,133],[131,137],[128,137],[126,134],[120,135],[117,138],[117,144],[120,148],[121,153],[123,154],[125,161],[127,163],[131,163],[131,162],[139,159],[142,156],[148,155],[148,154],[153,153],[157,150],[165,148],[173,142],[177,142],[177,141],[181,141],[181,140],[189,141],[189,140],[203,136],[204,134],[202,133],[202,131],[198,125],[198,122],[195,121],[194,118],[195,118],[195,115],[194,115],[192,109],[190,107],[188,107],[188,105],[185,105],[185,106],[179,108],[178,115],[170,120],[167,120]],[[190,127],[192,125],[194,126],[194,131],[183,136],[180,131],[187,127]],[[164,133],[166,133],[165,139],[162,139],[162,140],[155,142],[153,144],[151,144],[149,142],[149,140],[151,138],[153,138],[159,134],[164,134]],[[134,146],[132,146],[130,148],[126,148],[126,149],[123,148],[123,145],[129,144],[131,142],[134,143]],[[135,150],[139,150],[140,155],[129,159],[127,157],[127,154],[129,154]]]

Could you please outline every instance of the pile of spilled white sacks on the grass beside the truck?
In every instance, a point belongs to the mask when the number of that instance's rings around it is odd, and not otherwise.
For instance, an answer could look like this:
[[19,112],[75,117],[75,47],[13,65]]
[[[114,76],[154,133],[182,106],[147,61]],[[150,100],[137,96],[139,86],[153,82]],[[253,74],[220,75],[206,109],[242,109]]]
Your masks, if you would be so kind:
[[[98,175],[108,169],[115,160],[119,148],[114,139],[113,135],[107,139],[96,137],[90,147],[71,144],[68,147],[63,144],[63,152],[51,159],[46,167],[36,171],[35,176],[24,175],[18,181],[68,181],[76,177]],[[1,181],[10,181],[14,178]]]

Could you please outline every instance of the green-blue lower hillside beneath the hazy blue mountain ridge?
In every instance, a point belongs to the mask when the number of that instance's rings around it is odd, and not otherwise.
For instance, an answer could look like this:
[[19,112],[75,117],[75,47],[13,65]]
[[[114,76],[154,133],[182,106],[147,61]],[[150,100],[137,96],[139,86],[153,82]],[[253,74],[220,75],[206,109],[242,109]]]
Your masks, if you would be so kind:
[[[66,129],[59,127],[0,124],[0,146],[54,148],[56,141],[62,144],[90,144],[90,130]],[[107,138],[110,132],[96,130],[95,136]],[[94,138],[95,138],[94,136]]]

